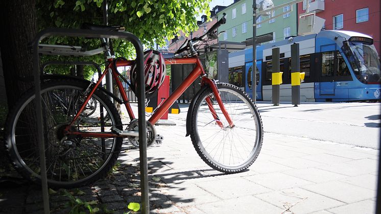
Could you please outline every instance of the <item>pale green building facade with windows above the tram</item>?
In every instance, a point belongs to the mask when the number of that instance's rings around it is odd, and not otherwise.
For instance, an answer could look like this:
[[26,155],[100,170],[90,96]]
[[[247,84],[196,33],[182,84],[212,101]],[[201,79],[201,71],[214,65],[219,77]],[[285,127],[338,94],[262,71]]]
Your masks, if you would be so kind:
[[[288,0],[273,0],[274,6],[288,3]],[[220,37],[220,41],[245,42],[253,37],[253,0],[238,0],[230,6],[218,12],[218,17],[226,13],[226,23],[219,28],[219,32],[225,31]],[[291,8],[280,8],[272,14],[276,16]],[[257,19],[265,20],[269,16]],[[293,11],[288,14],[278,16],[257,26],[256,36],[273,33],[273,41],[283,40],[289,36],[297,36],[297,6],[293,6]]]

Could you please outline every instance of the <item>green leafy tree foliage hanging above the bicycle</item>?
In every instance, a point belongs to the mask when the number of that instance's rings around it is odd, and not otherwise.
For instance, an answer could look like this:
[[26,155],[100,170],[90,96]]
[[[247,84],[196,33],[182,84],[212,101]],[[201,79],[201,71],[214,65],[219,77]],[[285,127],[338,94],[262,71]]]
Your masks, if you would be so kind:
[[[154,42],[163,45],[166,39],[174,38],[179,31],[190,33],[198,28],[196,16],[210,15],[211,0],[109,0],[109,25],[122,25],[126,31],[135,34],[146,46]],[[80,28],[82,23],[103,24],[103,0],[37,0],[37,28]],[[70,44],[87,47],[87,50],[100,46],[99,39],[49,37],[44,43]],[[130,42],[114,40],[116,56],[135,58],[135,51]],[[62,61],[62,57],[58,57]],[[57,60],[56,56],[44,58],[45,61]],[[78,60],[69,58],[65,60]],[[82,61],[103,63],[103,56],[87,57]],[[53,73],[67,72],[66,68]],[[85,69],[85,76],[91,76],[91,69]]]

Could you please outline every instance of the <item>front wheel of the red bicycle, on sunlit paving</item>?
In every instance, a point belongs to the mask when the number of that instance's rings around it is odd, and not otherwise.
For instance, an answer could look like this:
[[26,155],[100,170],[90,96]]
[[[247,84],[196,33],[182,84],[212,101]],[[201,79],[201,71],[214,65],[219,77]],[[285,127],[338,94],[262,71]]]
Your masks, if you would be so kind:
[[[261,118],[244,91],[227,83],[217,86],[234,127],[229,127],[212,90],[207,88],[196,101],[190,137],[197,153],[211,168],[224,173],[239,173],[247,169],[259,154],[263,141]],[[208,98],[211,106],[206,102]],[[216,115],[211,113],[210,107]],[[223,127],[216,123],[217,120]]]

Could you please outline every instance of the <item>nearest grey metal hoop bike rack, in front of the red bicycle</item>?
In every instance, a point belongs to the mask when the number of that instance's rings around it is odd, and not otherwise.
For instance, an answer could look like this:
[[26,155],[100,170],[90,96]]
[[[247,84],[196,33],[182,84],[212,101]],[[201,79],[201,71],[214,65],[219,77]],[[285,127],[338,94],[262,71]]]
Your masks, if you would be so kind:
[[[44,139],[42,134],[42,107],[41,107],[41,85],[40,85],[40,60],[39,54],[43,53],[43,48],[40,49],[40,41],[43,38],[50,36],[68,36],[68,37],[89,37],[89,38],[121,38],[129,40],[136,50],[136,61],[138,70],[143,70],[144,53],[140,40],[133,34],[128,32],[110,32],[104,30],[79,30],[79,29],[45,29],[39,32],[32,43],[33,49],[33,72],[36,94],[36,117],[37,117],[37,139],[39,141],[40,167],[41,167],[41,186],[44,213],[50,213],[49,194],[47,190],[46,178],[46,163],[44,153]],[[49,45],[48,45],[49,46]],[[58,46],[58,45],[56,45]],[[74,46],[69,46],[74,48]],[[78,50],[78,49],[77,49]],[[96,53],[95,51],[94,53]],[[88,53],[88,52],[85,52]],[[45,53],[47,54],[47,53]],[[146,142],[146,117],[145,117],[145,88],[144,88],[144,73],[138,75],[138,125],[139,125],[139,142]],[[147,144],[139,144],[140,154],[140,187],[141,187],[141,212],[149,213],[149,196],[148,196],[148,165],[147,165]]]

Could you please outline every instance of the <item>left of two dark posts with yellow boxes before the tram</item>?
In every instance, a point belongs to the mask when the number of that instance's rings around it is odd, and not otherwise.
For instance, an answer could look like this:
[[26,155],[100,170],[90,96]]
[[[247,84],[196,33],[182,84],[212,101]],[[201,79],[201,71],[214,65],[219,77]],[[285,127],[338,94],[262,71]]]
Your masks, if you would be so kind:
[[282,75],[280,74],[280,53],[279,47],[272,49],[272,74],[271,74],[271,84],[272,84],[272,103],[274,106],[279,105],[280,103],[280,80]]

